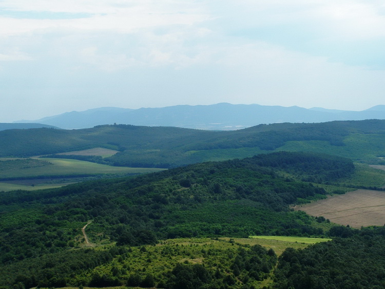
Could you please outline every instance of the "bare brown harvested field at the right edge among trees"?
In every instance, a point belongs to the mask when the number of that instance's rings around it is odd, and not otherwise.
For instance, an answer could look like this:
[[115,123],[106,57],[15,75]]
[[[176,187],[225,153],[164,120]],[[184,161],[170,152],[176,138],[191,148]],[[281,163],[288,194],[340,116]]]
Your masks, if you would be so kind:
[[359,189],[319,200],[311,204],[296,206],[312,216],[323,216],[331,222],[361,226],[383,226],[385,224],[385,192]]

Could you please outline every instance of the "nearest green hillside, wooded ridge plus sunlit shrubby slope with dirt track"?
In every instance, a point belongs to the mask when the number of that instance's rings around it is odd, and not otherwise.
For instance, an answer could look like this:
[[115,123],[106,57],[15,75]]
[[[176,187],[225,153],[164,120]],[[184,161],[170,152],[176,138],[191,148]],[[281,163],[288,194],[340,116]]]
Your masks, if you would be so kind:
[[[191,283],[188,288],[271,284],[273,249],[234,241],[163,246],[162,240],[327,237],[331,223],[289,205],[324,198],[322,183],[349,178],[354,170],[349,159],[280,152],[133,179],[2,192],[0,286],[180,288],[178,280]],[[87,223],[91,244],[84,248],[81,229]]]

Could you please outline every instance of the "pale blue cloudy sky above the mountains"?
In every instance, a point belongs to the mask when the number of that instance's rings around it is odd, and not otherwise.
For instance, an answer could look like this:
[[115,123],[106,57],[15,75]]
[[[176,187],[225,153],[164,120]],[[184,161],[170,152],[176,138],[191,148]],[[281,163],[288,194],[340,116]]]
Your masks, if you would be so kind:
[[0,0],[0,122],[384,96],[383,0]]

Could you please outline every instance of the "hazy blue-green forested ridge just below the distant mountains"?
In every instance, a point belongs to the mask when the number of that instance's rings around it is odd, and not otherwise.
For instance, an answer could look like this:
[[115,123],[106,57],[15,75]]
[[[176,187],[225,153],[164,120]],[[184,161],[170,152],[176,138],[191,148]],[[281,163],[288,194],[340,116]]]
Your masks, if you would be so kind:
[[[258,125],[236,131],[104,125],[90,129],[0,131],[0,157],[30,157],[104,147],[116,155],[85,160],[117,166],[170,168],[203,161],[244,158],[272,151],[316,151],[381,162],[385,120]],[[51,156],[79,158],[76,156]]]

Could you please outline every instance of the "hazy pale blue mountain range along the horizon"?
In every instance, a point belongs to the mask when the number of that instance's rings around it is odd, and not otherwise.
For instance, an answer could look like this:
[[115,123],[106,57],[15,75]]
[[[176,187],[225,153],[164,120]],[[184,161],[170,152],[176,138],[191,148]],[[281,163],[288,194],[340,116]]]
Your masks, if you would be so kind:
[[328,121],[385,119],[385,105],[362,111],[298,106],[265,106],[258,104],[177,105],[162,108],[128,109],[101,107],[85,111],[65,112],[34,121],[65,129],[89,128],[103,124],[131,124],[142,126],[175,126],[206,130],[235,130],[258,124],[320,123]]

